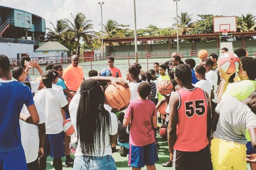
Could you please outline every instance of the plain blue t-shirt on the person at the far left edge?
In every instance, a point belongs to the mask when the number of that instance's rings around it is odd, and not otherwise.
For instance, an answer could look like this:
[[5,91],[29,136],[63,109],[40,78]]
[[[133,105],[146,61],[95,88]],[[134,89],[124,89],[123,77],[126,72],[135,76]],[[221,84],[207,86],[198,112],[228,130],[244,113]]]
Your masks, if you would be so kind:
[[34,104],[31,90],[23,83],[0,79],[0,152],[22,147],[19,115],[23,104]]

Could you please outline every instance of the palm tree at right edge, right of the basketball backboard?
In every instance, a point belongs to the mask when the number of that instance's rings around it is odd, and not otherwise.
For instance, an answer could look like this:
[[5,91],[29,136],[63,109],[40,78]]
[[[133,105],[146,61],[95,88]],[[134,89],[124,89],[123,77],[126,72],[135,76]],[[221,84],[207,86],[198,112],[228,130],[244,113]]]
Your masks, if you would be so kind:
[[252,14],[242,15],[242,17],[238,17],[237,28],[240,29],[240,32],[254,31],[256,27],[255,21],[256,18]]

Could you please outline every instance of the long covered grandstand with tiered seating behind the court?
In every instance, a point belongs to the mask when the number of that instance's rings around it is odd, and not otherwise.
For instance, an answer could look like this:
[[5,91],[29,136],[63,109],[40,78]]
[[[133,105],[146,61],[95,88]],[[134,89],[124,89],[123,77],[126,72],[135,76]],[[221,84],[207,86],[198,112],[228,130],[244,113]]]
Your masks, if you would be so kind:
[[[245,37],[256,36],[256,32],[235,32],[232,33],[232,38],[237,37],[242,40],[234,40],[233,48],[244,48],[250,56],[255,56],[256,40],[245,40]],[[212,39],[209,42],[196,42],[202,38]],[[179,39],[195,40],[191,43],[179,43],[179,53],[183,57],[196,57],[201,49],[207,50],[209,53],[219,52],[219,33],[213,34],[194,34],[194,35],[179,35]],[[166,44],[153,44],[154,41],[168,41]],[[138,55],[141,57],[169,57],[170,54],[176,52],[177,44],[173,43],[176,36],[154,36],[154,37],[137,37],[137,41],[143,42],[138,45]],[[103,39],[104,43],[129,43],[129,45],[105,46],[105,56],[134,56],[134,38],[111,38]],[[97,54],[96,54],[97,56]],[[99,55],[98,55],[99,56]]]

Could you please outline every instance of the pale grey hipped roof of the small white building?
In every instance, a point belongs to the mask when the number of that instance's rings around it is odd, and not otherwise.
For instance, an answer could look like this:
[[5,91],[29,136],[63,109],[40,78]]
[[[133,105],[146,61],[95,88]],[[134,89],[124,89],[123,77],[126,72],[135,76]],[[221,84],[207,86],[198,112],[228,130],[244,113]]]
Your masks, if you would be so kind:
[[47,43],[44,43],[41,47],[35,50],[35,52],[40,51],[69,51],[69,49],[57,41],[48,41]]

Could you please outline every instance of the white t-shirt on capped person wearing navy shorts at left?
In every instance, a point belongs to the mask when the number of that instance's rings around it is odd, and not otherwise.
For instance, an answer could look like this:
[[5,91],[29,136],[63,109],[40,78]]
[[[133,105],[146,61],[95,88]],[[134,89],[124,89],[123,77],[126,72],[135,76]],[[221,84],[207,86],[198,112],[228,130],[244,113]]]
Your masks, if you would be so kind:
[[68,104],[63,91],[59,92],[52,88],[44,88],[34,96],[34,101],[40,103],[47,115],[45,122],[46,134],[58,134],[63,131],[63,116],[61,107]]

